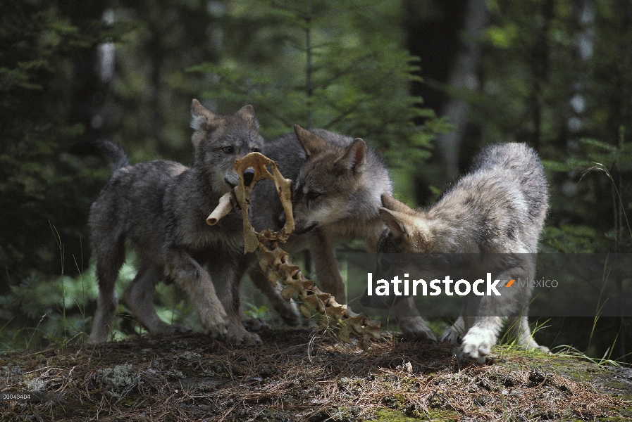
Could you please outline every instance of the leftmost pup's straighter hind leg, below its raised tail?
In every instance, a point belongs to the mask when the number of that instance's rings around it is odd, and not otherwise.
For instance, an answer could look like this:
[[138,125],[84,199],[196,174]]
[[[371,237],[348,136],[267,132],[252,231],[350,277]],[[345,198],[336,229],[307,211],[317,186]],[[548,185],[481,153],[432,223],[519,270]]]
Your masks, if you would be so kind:
[[[108,245],[106,250],[100,249],[100,245]],[[99,282],[99,299],[97,311],[92,319],[92,332],[88,343],[97,344],[108,340],[112,321],[118,306],[118,295],[115,285],[118,278],[118,270],[125,261],[125,245],[123,238],[115,241],[101,242],[94,248],[94,256],[97,261],[97,280]]]

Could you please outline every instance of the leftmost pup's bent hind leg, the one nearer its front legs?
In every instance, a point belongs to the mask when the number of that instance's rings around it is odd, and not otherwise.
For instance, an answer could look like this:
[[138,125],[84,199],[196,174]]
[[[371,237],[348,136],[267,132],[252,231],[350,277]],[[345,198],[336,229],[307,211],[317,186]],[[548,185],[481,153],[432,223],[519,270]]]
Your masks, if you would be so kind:
[[190,331],[185,326],[167,324],[156,314],[154,290],[162,275],[163,271],[160,267],[142,264],[134,280],[125,288],[125,293],[123,293],[125,305],[128,305],[135,319],[151,334],[170,335]]

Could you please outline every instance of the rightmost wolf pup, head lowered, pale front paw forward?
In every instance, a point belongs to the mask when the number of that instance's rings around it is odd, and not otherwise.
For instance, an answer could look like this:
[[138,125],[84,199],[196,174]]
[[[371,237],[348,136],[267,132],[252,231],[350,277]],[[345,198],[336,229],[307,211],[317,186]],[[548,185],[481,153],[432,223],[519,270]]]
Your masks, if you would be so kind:
[[[388,229],[379,240],[378,253],[516,254],[515,266],[495,279],[533,279],[547,200],[547,181],[535,151],[521,143],[494,144],[481,151],[471,171],[427,210],[411,210],[383,196],[379,212]],[[512,292],[517,293],[502,302],[467,295],[461,316],[442,339],[457,343],[464,334],[461,357],[484,361],[497,342],[502,318],[481,314],[507,315],[519,345],[547,350],[533,340],[523,313],[531,288]],[[477,309],[479,315],[471,316]]]

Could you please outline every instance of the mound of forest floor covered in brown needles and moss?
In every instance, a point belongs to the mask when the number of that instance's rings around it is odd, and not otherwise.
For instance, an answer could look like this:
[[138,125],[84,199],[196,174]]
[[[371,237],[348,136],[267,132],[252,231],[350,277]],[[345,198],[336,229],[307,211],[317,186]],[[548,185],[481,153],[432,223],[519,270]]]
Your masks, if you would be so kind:
[[2,421],[626,421],[632,369],[496,347],[464,364],[453,345],[387,338],[363,351],[322,331],[263,344],[204,335],[0,354]]

